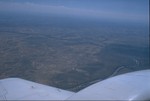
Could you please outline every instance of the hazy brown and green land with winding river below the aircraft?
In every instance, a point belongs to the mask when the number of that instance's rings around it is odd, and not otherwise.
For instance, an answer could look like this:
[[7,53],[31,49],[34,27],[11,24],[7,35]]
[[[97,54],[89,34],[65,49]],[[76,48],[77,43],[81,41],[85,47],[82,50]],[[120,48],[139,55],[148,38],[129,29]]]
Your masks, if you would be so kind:
[[18,77],[72,90],[150,68],[148,29],[142,25],[2,18],[0,79]]

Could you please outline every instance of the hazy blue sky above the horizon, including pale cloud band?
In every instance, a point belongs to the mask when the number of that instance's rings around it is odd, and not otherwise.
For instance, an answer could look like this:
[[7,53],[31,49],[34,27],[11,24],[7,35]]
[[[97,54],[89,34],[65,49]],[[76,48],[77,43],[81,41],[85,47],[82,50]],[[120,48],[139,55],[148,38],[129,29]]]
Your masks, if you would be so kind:
[[148,22],[149,0],[0,0],[2,11]]

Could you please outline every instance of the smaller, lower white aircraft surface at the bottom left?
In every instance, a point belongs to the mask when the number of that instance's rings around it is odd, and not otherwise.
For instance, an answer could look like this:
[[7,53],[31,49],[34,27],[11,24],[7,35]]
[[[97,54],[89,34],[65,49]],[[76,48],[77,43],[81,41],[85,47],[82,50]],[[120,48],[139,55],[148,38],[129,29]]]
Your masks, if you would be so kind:
[[65,100],[72,94],[19,78],[0,80],[0,100]]

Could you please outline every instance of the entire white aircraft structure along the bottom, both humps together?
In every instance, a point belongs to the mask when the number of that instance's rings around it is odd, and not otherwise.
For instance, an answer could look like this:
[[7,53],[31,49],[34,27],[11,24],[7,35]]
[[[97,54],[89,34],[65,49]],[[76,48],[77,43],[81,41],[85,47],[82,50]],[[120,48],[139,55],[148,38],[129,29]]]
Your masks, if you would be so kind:
[[150,100],[150,70],[115,76],[77,93],[31,81],[0,80],[0,100]]

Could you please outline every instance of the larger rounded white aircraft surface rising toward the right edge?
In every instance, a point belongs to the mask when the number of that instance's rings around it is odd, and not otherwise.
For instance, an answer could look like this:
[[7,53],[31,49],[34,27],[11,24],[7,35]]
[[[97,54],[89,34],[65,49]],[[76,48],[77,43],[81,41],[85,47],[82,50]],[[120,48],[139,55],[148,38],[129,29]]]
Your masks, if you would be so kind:
[[109,78],[83,89],[68,100],[150,100],[150,70]]

